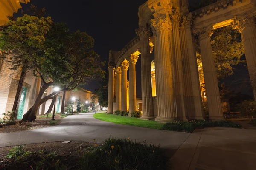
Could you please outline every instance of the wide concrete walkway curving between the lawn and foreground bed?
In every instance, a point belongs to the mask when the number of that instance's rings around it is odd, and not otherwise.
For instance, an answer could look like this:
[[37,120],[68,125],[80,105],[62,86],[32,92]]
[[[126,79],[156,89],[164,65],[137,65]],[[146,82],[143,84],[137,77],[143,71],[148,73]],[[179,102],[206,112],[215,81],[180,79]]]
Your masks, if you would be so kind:
[[0,147],[51,141],[93,141],[113,137],[160,144],[174,170],[256,170],[256,130],[211,127],[192,134],[118,125],[93,113],[68,116],[46,129],[0,134]]

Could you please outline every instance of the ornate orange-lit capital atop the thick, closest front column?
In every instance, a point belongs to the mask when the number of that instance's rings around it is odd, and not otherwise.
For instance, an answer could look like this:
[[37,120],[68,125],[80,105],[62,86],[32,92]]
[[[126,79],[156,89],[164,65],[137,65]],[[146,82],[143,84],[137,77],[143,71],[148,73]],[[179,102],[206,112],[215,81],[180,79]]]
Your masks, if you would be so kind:
[[153,31],[172,29],[171,19],[168,15],[152,19],[151,26],[153,27]]

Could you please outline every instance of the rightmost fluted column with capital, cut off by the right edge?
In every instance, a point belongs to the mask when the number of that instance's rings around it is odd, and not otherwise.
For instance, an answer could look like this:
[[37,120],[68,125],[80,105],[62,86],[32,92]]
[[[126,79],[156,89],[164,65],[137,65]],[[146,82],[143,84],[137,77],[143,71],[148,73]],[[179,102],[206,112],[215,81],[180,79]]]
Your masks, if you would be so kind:
[[250,81],[256,100],[256,14],[246,13],[234,19],[234,28],[241,33]]

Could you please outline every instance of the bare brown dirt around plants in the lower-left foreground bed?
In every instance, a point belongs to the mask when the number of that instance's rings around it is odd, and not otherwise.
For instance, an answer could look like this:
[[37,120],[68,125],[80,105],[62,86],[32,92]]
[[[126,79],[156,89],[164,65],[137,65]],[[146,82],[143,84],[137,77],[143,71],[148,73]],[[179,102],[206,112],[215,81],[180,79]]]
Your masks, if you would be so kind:
[[[70,142],[62,144],[61,142],[47,142],[38,144],[26,144],[24,149],[30,152],[35,152],[34,156],[28,156],[26,159],[13,160],[6,158],[6,155],[10,152],[13,147],[2,147],[0,148],[0,170],[31,170],[36,169],[38,161],[37,153],[51,153],[55,152],[57,156],[49,163],[54,163],[59,160],[61,163],[68,165],[71,170],[78,169],[79,159],[83,153],[88,152],[94,148],[93,143],[88,142]],[[27,161],[27,162],[26,162]],[[44,167],[47,169],[47,167]],[[50,170],[51,168],[49,168]],[[55,169],[55,168],[54,168]]]

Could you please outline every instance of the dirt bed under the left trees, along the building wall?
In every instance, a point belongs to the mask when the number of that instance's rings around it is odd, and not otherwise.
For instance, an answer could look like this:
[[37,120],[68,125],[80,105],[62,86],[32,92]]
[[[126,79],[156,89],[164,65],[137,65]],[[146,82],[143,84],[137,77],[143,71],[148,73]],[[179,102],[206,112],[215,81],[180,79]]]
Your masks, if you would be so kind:
[[23,122],[20,124],[18,121],[15,121],[13,125],[0,126],[0,133],[33,130],[33,129],[40,129],[43,127],[46,128],[46,127],[56,126],[60,122],[61,120],[51,121],[51,119],[48,119],[46,124],[46,120],[35,119],[35,122]]

